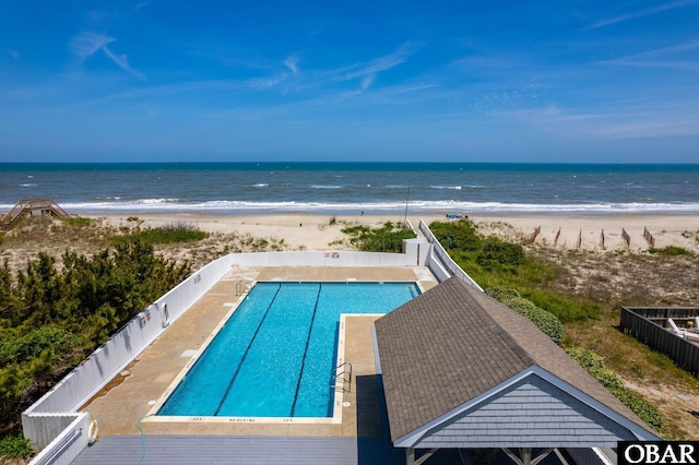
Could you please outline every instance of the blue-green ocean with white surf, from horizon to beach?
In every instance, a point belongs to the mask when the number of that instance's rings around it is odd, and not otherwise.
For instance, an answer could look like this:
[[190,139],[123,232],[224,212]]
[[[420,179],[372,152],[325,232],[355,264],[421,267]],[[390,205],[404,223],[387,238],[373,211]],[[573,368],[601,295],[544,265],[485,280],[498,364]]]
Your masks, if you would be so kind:
[[0,213],[699,213],[699,165],[0,164]]

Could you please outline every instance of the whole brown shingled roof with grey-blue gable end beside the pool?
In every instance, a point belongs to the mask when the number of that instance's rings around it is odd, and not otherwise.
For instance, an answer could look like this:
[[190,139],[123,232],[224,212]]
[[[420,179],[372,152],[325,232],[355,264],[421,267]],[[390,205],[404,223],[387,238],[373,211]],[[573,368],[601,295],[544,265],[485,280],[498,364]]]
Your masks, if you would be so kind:
[[657,439],[534,324],[455,277],[379,319],[376,339],[396,446]]

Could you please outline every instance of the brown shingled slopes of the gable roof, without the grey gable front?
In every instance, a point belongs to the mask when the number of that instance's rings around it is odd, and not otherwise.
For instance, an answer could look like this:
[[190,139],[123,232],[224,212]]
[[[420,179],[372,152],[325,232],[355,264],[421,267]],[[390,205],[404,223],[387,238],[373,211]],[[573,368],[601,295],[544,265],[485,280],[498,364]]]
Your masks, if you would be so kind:
[[565,389],[574,397],[589,396],[637,438],[656,439],[534,324],[455,277],[377,320],[375,327],[394,443],[526,370],[562,381],[558,384],[570,386]]

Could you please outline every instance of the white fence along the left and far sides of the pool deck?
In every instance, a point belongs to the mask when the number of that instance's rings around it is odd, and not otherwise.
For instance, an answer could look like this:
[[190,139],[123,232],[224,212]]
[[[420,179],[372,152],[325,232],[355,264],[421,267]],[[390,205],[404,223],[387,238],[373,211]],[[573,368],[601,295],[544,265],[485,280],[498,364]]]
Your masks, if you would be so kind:
[[[404,253],[301,251],[236,253],[194,273],[157,299],[22,413],[24,436],[40,453],[32,464],[69,464],[91,441],[95,424],[76,409],[123,370],[167,326],[199,300],[232,266],[416,266],[427,245],[404,243]],[[425,259],[423,259],[425,260]]]

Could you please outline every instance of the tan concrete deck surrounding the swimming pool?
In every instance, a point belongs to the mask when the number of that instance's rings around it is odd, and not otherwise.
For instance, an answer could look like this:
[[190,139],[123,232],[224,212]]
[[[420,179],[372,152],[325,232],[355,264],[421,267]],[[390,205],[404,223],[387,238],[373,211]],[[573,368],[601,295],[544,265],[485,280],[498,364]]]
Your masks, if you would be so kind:
[[81,408],[98,421],[99,434],[139,434],[137,422],[142,419],[140,427],[146,434],[380,437],[380,396],[370,330],[376,315],[345,318],[344,360],[352,363],[353,375],[352,390],[342,398],[348,406],[340,407],[341,421],[208,417],[173,420],[147,416],[241,301],[238,283],[258,281],[415,282],[422,291],[437,285],[429,270],[422,266],[234,267]]

